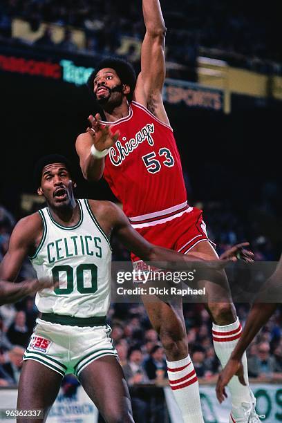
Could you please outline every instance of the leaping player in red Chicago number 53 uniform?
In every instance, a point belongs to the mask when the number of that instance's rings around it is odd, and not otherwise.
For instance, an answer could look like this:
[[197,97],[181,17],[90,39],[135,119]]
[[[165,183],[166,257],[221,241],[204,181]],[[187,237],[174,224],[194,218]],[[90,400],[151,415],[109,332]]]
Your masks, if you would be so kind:
[[[148,241],[206,260],[218,256],[207,236],[202,212],[187,204],[180,156],[162,102],[165,77],[166,28],[158,0],[143,0],[146,33],[141,50],[141,72],[121,59],[104,59],[88,79],[95,102],[104,112],[90,116],[91,130],[78,136],[76,149],[84,177],[109,182],[122,202],[133,228]],[[132,255],[133,266],[142,261]],[[198,381],[188,354],[182,304],[156,298],[144,305],[167,356],[173,394],[186,422],[203,422]],[[216,354],[225,366],[241,334],[231,301],[207,304],[212,314]],[[243,357],[245,378],[247,360]],[[230,422],[259,422],[254,396],[234,377]]]

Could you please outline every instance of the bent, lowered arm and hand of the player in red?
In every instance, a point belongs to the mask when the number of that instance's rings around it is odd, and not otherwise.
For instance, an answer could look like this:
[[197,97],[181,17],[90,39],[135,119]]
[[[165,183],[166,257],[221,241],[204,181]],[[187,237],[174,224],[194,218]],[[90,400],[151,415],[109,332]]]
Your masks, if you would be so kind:
[[86,180],[97,181],[102,178],[105,159],[97,158],[91,153],[91,147],[94,145],[97,151],[105,151],[115,144],[120,132],[111,133],[109,125],[100,124],[101,117],[97,113],[95,117],[90,115],[88,118],[91,129],[78,135],[75,142],[75,149],[79,156],[79,164],[83,176]]

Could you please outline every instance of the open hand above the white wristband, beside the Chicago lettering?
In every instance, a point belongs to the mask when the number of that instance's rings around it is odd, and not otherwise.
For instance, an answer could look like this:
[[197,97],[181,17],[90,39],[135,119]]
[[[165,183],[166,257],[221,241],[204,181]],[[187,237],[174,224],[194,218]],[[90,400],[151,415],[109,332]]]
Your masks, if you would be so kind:
[[111,132],[110,126],[101,123],[101,116],[96,113],[95,116],[90,115],[88,121],[91,126],[86,129],[90,133],[96,150],[103,151],[113,147],[116,140],[120,136],[120,131]]

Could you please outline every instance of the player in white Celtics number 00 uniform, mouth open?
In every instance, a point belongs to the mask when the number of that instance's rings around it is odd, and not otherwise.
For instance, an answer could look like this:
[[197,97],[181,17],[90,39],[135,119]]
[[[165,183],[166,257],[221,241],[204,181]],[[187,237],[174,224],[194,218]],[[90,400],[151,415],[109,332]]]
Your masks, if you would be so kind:
[[[110,235],[144,261],[198,259],[151,245],[113,203],[75,200],[71,164],[64,156],[42,158],[36,173],[37,192],[48,207],[17,223],[0,276],[13,281],[28,254],[37,276],[59,279],[59,286],[37,292],[41,317],[23,356],[17,408],[43,408],[46,418],[62,378],[73,373],[106,422],[133,422],[128,388],[106,325]],[[232,249],[225,258],[237,253]]]

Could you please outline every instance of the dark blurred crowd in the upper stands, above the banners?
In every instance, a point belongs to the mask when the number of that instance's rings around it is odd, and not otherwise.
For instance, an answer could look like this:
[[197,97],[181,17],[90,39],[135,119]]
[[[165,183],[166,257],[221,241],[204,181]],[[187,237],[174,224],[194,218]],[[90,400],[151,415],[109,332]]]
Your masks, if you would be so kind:
[[[214,55],[230,64],[267,73],[281,72],[279,21],[275,8],[261,10],[253,1],[245,4],[223,0],[162,0],[167,32],[167,62],[193,68],[198,55]],[[270,15],[270,16],[267,16]],[[113,54],[122,37],[141,41],[144,23],[141,1],[109,0],[3,0],[0,5],[0,36],[12,36],[12,19],[28,21],[36,32],[42,22],[80,28],[86,35],[86,52]],[[277,19],[277,22],[276,22]],[[38,46],[75,51],[77,45],[66,30],[55,44],[51,28],[35,41]],[[207,52],[208,50],[208,52]],[[134,62],[139,50],[131,44],[126,55]]]

